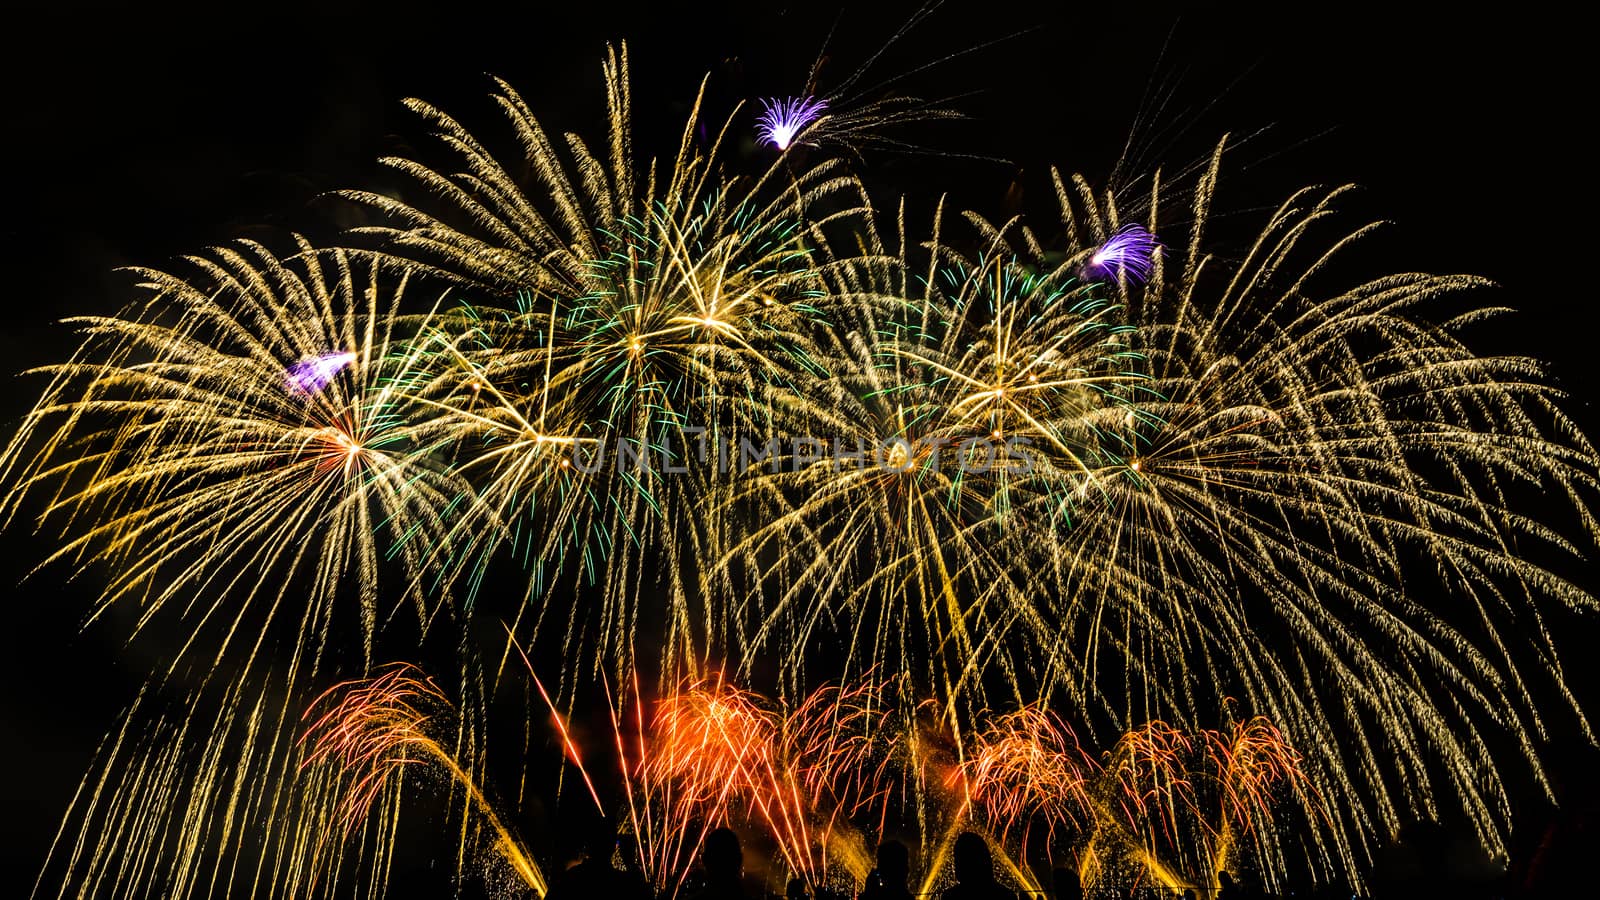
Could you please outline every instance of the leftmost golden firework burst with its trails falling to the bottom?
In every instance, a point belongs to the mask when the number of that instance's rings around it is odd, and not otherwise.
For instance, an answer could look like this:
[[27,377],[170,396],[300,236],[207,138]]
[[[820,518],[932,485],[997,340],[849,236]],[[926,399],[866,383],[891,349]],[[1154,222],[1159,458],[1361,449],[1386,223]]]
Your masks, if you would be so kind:
[[[365,661],[384,604],[430,618],[414,583],[464,490],[400,415],[403,280],[304,243],[288,263],[253,243],[192,263],[187,277],[139,271],[144,303],[78,320],[83,346],[45,370],[3,458],[6,514],[45,500],[40,527],[64,535],[51,562],[109,572],[93,617],[123,605],[136,629],[162,618],[189,634],[85,778],[78,841],[94,852],[48,863],[67,866],[67,892],[144,846],[163,850],[117,876],[130,892],[259,868],[296,894],[339,866],[310,841],[322,814],[302,804],[330,788],[296,775],[296,698],[330,645],[346,655],[342,636]],[[286,389],[306,360],[318,388]],[[173,679],[186,663],[198,677]],[[253,839],[211,852],[174,828]],[[381,879],[386,838],[373,846],[363,878]]]

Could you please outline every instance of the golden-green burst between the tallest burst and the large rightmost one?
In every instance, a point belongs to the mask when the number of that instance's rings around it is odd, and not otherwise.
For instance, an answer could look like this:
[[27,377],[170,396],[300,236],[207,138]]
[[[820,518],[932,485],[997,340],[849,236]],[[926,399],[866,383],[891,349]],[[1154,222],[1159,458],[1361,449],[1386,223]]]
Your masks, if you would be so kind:
[[1069,527],[1070,487],[1110,453],[1096,416],[1138,375],[1104,293],[990,250],[960,259],[936,229],[925,263],[902,240],[840,269],[822,378],[755,399],[778,434],[813,437],[726,492],[754,522],[723,560],[755,585],[746,658],[790,647],[798,681],[800,649],[842,633],[846,665],[952,700],[997,671],[1022,690],[1048,623],[1006,544]]

